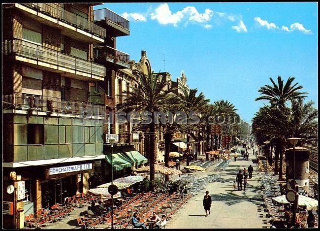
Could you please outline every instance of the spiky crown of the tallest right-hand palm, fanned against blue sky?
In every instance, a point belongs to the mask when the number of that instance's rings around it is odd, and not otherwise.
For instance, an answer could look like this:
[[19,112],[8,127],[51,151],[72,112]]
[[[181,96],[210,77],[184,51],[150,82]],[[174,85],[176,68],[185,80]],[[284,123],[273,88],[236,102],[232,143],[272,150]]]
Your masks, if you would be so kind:
[[264,85],[261,87],[258,92],[262,96],[256,98],[256,101],[266,99],[269,100],[272,106],[284,107],[288,100],[305,98],[306,96],[304,96],[304,94],[308,94],[306,92],[298,91],[303,88],[301,85],[297,86],[298,83],[292,85],[292,82],[295,79],[293,76],[288,78],[285,85],[280,75],[278,76],[278,85],[271,77],[269,77],[269,79],[273,86]]

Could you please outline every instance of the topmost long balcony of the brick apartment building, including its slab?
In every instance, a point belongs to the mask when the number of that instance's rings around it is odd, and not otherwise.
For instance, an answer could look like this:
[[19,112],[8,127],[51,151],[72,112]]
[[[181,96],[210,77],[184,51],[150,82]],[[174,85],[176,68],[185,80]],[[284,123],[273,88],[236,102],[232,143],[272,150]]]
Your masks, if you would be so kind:
[[94,22],[64,10],[57,3],[15,3],[35,21],[61,30],[61,33],[88,43],[104,42],[106,30]]

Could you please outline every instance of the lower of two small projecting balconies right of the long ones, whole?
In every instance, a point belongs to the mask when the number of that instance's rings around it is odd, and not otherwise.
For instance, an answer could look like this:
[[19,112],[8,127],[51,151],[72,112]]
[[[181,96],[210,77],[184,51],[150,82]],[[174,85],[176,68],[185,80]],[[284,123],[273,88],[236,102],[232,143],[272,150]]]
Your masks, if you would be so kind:
[[94,48],[95,62],[114,69],[130,68],[129,54],[109,46]]

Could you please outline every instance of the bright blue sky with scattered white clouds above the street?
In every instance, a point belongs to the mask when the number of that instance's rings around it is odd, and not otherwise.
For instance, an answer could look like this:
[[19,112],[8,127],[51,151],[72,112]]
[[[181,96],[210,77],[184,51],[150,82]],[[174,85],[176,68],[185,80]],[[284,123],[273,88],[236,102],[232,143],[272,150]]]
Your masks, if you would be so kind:
[[[172,79],[184,70],[191,88],[212,102],[226,99],[251,122],[269,77],[295,76],[318,108],[318,3],[105,3],[130,21],[117,49]],[[164,54],[164,55],[163,55]],[[165,60],[165,62],[163,61]]]

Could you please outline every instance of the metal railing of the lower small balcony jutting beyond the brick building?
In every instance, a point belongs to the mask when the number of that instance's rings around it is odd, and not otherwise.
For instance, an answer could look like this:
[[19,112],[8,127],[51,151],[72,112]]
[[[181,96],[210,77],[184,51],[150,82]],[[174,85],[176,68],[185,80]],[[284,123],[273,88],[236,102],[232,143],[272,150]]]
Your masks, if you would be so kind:
[[94,48],[95,58],[112,59],[115,63],[122,62],[129,65],[129,54],[114,49],[109,46],[99,46]]

